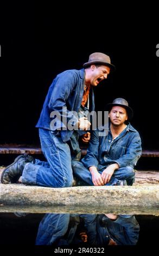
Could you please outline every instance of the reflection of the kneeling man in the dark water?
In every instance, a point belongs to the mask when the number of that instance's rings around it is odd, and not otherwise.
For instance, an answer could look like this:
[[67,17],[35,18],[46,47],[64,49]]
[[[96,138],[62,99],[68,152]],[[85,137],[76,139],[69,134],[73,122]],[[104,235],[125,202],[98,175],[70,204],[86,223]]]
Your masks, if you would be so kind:
[[81,219],[84,220],[84,217],[79,214],[46,214],[39,225],[36,245],[86,243],[87,234]]

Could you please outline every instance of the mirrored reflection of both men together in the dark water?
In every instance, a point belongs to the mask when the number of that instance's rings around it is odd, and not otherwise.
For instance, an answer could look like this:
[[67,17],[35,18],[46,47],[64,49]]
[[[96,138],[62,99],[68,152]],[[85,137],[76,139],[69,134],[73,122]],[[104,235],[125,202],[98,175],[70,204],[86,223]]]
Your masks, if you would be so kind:
[[46,214],[36,245],[136,245],[139,224],[134,215]]

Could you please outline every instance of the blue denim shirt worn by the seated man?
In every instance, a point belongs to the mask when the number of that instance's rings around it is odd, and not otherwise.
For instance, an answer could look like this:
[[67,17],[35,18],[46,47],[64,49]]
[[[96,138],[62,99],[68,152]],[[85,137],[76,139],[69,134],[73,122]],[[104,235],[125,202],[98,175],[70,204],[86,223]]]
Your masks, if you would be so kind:
[[113,141],[110,129],[106,136],[99,135],[101,131],[92,131],[87,155],[81,160],[86,168],[96,166],[99,170],[112,163],[120,168],[136,165],[142,154],[141,138],[130,123]]

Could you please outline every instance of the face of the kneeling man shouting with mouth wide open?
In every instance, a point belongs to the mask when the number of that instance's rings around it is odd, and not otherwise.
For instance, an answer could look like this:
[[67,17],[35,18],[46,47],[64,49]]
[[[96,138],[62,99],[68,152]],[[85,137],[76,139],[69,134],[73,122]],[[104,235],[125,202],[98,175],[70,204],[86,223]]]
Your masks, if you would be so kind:
[[101,65],[91,65],[91,84],[92,86],[97,86],[101,81],[107,78],[110,73],[109,66]]

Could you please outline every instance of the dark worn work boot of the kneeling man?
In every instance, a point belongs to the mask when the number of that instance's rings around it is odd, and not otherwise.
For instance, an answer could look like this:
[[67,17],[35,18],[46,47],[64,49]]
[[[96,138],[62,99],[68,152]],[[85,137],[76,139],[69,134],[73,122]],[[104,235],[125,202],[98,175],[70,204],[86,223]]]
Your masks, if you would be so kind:
[[22,176],[26,163],[34,163],[34,158],[28,154],[17,156],[14,162],[3,170],[1,182],[3,184],[17,182],[20,176]]

